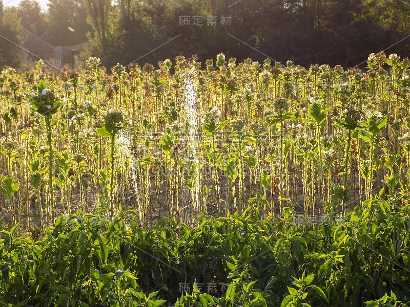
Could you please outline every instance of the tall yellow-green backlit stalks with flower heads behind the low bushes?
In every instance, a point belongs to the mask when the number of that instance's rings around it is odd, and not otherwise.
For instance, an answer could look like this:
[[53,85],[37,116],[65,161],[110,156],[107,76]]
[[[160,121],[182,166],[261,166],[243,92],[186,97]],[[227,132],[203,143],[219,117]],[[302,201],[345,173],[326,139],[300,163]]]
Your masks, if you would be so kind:
[[79,72],[5,68],[2,223],[45,229],[78,209],[112,219],[121,205],[141,226],[166,214],[194,225],[202,214],[240,214],[258,193],[262,216],[293,207],[317,223],[383,185],[408,195],[410,63],[379,53],[367,65],[305,69],[220,54],[203,69],[195,57],[111,74],[97,58]]

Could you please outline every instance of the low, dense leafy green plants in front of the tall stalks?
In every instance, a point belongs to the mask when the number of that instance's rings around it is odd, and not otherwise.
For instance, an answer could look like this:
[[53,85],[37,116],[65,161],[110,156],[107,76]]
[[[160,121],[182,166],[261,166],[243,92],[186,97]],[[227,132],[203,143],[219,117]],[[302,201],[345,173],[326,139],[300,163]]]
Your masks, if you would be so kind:
[[[381,195],[382,193],[380,193]],[[261,197],[198,227],[138,213],[61,215],[41,240],[0,231],[4,306],[408,306],[410,207],[366,200],[344,218],[272,222]],[[304,217],[301,217],[304,219]]]

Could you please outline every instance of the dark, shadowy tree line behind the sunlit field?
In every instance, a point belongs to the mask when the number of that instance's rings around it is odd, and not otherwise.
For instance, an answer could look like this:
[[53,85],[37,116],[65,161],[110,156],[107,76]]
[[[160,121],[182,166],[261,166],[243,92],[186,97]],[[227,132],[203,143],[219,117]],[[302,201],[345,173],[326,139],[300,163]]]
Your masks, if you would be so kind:
[[[193,54],[204,63],[223,52],[347,68],[410,35],[410,4],[400,0],[49,0],[47,11],[23,0],[0,11],[10,40],[24,41],[23,26],[54,46],[90,41],[81,57],[106,67]],[[410,38],[387,52],[409,50]],[[18,65],[21,53],[2,40],[0,65]]]

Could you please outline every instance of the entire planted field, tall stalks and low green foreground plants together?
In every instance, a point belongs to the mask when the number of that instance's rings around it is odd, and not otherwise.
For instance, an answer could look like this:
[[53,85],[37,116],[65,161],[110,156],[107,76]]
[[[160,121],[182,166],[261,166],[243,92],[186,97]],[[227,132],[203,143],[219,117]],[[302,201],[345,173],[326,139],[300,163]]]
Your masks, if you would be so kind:
[[410,61],[0,75],[0,305],[410,305]]

